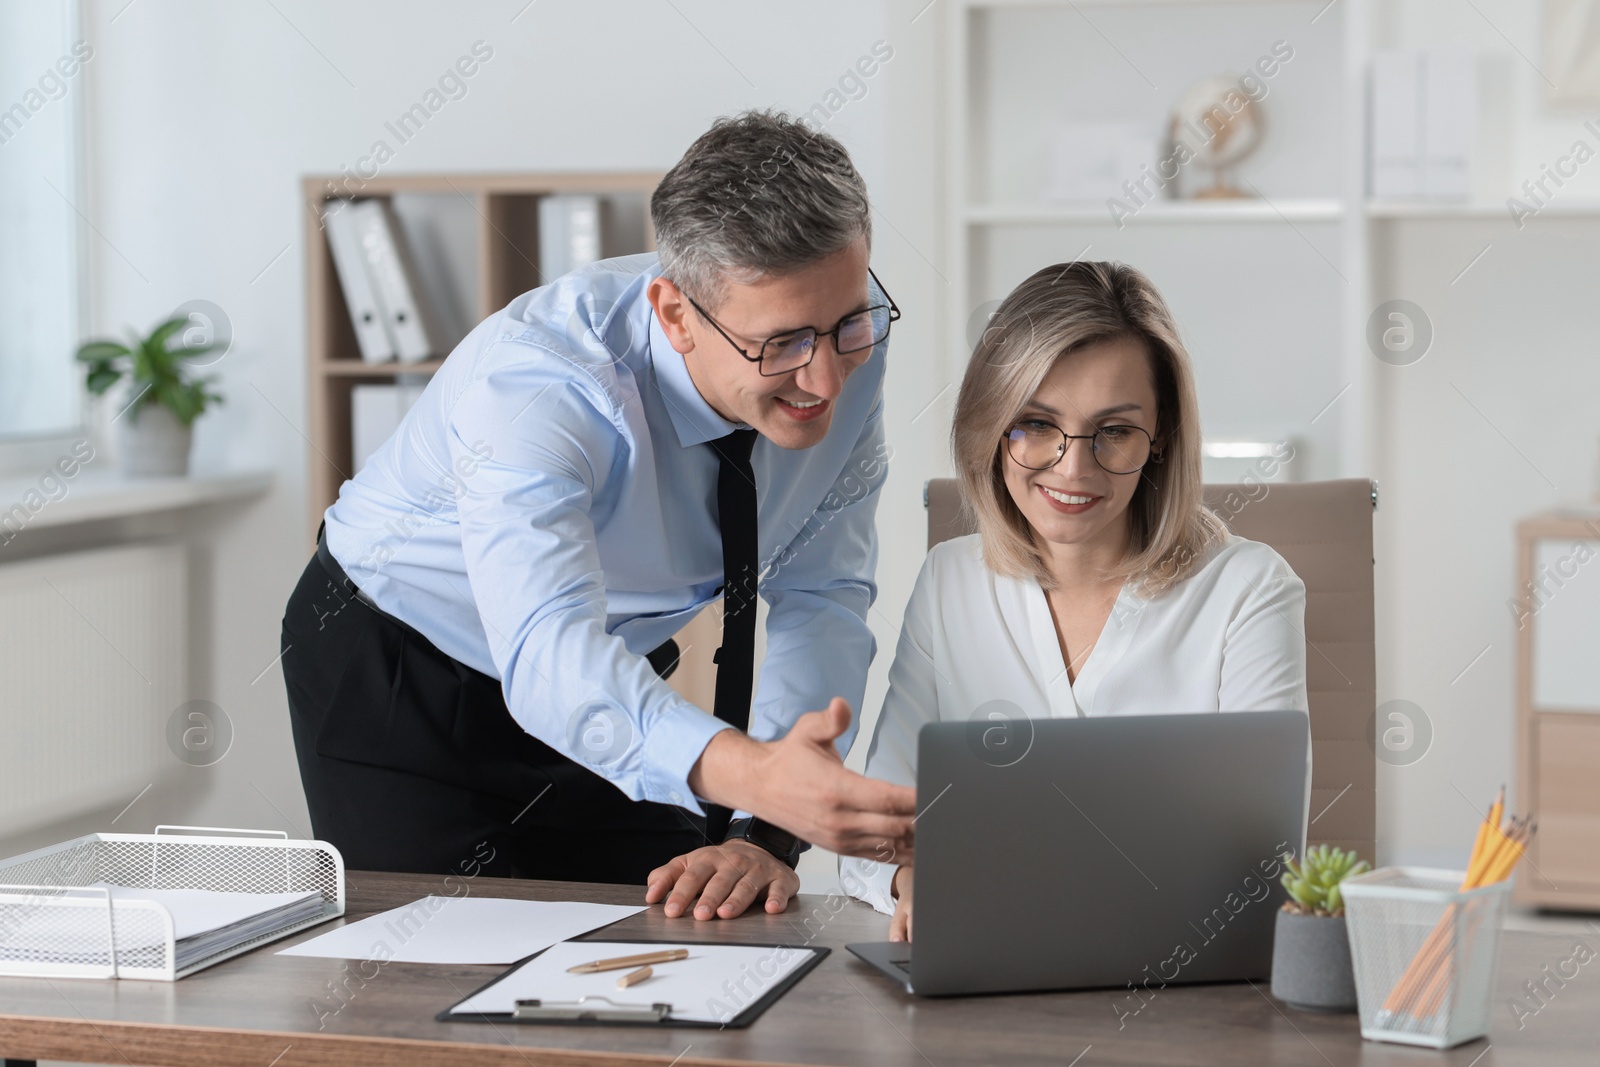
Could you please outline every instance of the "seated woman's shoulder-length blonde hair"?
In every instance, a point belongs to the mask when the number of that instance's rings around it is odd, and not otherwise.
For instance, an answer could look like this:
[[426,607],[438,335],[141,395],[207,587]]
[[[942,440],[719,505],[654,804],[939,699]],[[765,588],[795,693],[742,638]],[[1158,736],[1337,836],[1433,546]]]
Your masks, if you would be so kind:
[[1005,432],[1058,360],[1091,344],[1131,339],[1149,357],[1157,424],[1150,462],[1128,502],[1128,553],[1106,577],[1154,597],[1189,576],[1227,528],[1202,502],[1200,411],[1189,352],[1155,285],[1120,262],[1045,267],[1016,286],[989,322],[962,379],[950,446],[984,561],[1011,577],[1054,584],[1027,518],[1005,485]]

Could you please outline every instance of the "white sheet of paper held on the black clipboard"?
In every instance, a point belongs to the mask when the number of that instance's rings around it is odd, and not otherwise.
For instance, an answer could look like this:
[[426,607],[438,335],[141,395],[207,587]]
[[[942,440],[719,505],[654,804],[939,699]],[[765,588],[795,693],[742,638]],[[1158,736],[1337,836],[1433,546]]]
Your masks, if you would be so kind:
[[[634,968],[568,974],[566,968],[613,957],[688,949],[686,960],[658,963],[651,976],[619,990],[616,979]],[[576,1001],[606,997],[616,1006],[672,1005],[674,1019],[728,1022],[810,960],[811,949],[771,945],[664,945],[651,942],[568,941],[456,1005],[453,1014],[510,1014],[518,1000]],[[595,1006],[602,1001],[589,1000]]]

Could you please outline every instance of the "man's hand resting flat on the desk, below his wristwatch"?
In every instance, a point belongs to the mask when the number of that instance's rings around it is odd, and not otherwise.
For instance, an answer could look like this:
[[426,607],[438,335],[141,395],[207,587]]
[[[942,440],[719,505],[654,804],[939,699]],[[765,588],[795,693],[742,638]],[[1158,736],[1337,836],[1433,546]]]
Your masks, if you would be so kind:
[[733,840],[656,867],[645,885],[645,904],[666,897],[667,918],[683,915],[696,896],[694,918],[738,918],[763,893],[768,915],[782,912],[800,891],[800,875],[760,845]]

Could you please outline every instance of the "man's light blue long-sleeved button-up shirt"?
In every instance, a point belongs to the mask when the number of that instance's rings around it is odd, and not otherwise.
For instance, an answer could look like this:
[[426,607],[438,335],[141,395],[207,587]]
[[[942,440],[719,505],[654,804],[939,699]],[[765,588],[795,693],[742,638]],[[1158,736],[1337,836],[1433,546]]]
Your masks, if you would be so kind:
[[[643,656],[720,603],[707,442],[741,427],[706,403],[656,323],[645,291],[658,274],[654,254],[608,259],[482,322],[344,483],[326,537],[379,608],[499,678],[530,734],[634,800],[699,811],[688,773],[726,723]],[[861,710],[886,347],[846,379],[819,445],[760,438],[750,458],[768,603],[758,741],[834,696]],[[840,752],[853,737],[854,725]]]

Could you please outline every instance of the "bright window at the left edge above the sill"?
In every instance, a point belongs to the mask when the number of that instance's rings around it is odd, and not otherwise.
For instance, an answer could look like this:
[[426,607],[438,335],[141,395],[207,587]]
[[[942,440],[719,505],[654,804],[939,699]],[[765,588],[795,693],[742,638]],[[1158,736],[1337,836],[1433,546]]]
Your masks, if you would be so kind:
[[0,462],[80,424],[77,0],[0,5]]

